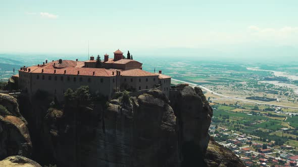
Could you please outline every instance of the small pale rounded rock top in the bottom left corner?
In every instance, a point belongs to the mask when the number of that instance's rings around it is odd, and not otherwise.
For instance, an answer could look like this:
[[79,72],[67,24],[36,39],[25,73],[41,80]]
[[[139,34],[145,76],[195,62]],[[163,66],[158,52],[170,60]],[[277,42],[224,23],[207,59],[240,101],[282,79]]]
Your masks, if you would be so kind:
[[24,156],[10,156],[0,161],[0,166],[14,167],[41,167],[37,162]]

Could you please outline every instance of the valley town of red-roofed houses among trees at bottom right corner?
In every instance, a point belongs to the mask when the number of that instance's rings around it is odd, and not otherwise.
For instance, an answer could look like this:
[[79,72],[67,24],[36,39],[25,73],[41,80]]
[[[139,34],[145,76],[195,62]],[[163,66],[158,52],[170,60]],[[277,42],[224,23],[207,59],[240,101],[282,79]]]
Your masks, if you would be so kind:
[[213,137],[228,136],[219,143],[240,157],[246,166],[297,166],[298,155],[289,151],[292,146],[265,142],[267,148],[263,148],[264,143],[258,143],[254,136],[214,125],[210,126],[209,133]]

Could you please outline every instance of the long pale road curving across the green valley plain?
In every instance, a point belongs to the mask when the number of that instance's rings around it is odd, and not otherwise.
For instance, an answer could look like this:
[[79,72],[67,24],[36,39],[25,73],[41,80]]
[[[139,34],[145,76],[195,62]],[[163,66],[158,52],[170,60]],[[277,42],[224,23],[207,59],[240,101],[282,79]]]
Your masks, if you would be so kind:
[[[298,107],[280,106],[280,105],[274,105],[274,104],[269,104],[269,103],[261,103],[261,102],[254,102],[254,101],[249,101],[249,100],[244,100],[244,99],[238,99],[238,98],[235,98],[235,97],[229,97],[229,96],[225,96],[225,95],[218,94],[218,93],[216,93],[216,92],[211,91],[210,89],[208,89],[208,88],[206,88],[206,87],[199,86],[199,85],[193,84],[193,83],[191,83],[191,82],[186,82],[186,81],[183,81],[183,80],[178,80],[178,79],[173,79],[173,78],[172,78],[172,80],[176,80],[176,81],[179,81],[179,82],[183,82],[183,83],[185,83],[185,84],[189,84],[189,85],[191,85],[191,86],[193,86],[193,87],[200,87],[200,88],[202,88],[203,90],[206,90],[206,91],[208,91],[208,92],[211,92],[211,93],[214,94],[214,95],[221,96],[221,97],[224,97],[224,98],[230,98],[230,99],[235,99],[235,100],[239,100],[239,101],[243,101],[243,102],[249,102],[249,103],[261,104],[261,105],[271,105],[271,106],[276,106],[276,107],[298,109]],[[297,114],[297,113],[289,113],[289,114]]]

